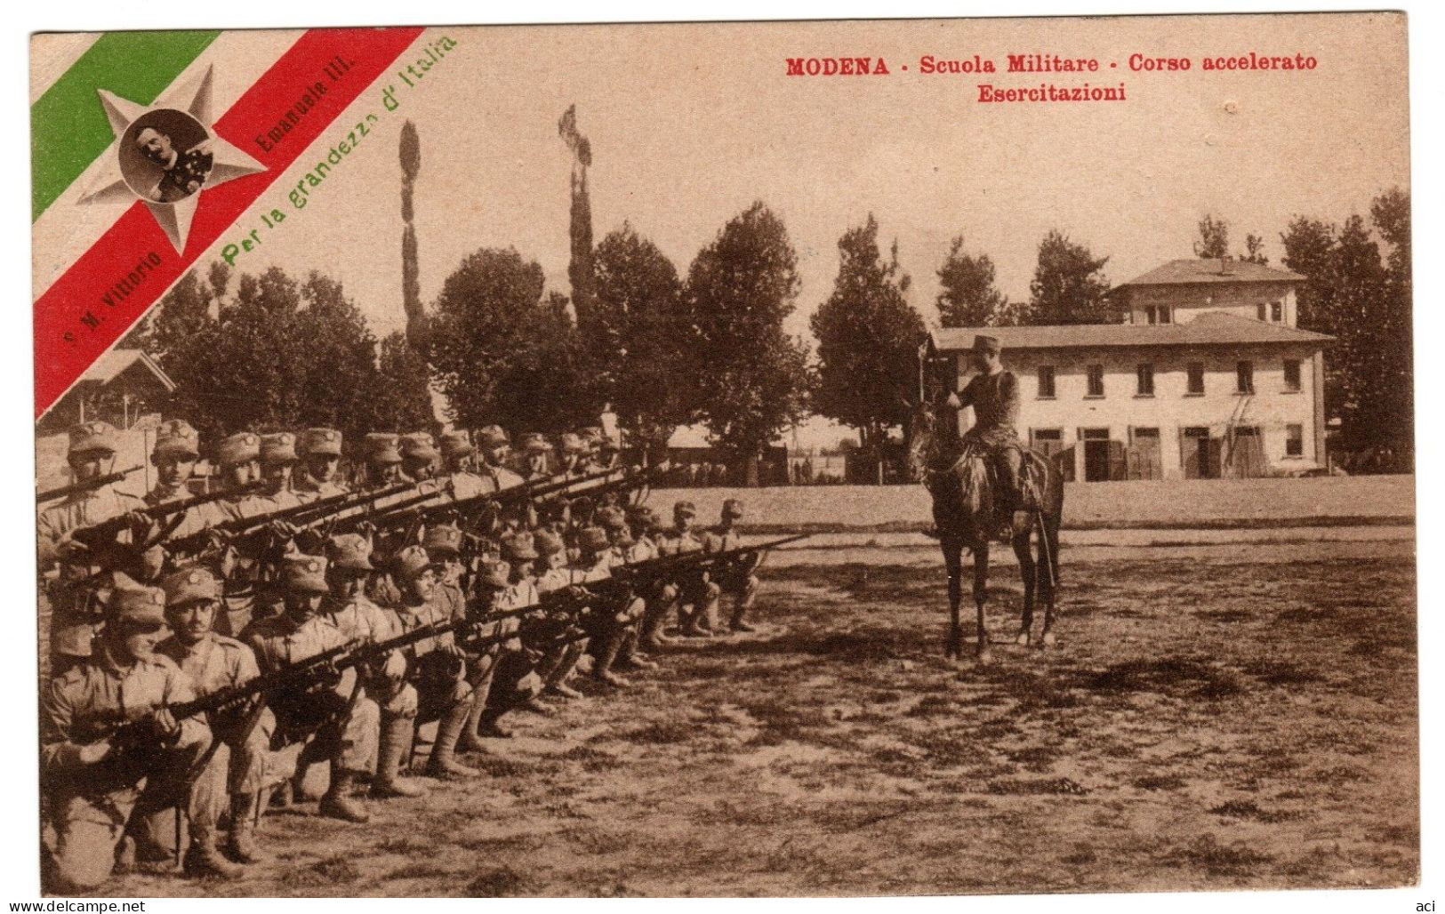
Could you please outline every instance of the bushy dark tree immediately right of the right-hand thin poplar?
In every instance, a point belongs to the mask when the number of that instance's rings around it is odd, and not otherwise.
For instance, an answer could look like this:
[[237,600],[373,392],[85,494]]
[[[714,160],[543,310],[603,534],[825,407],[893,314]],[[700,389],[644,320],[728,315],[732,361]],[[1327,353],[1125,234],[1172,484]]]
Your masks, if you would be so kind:
[[579,325],[618,423],[649,452],[689,422],[694,403],[678,269],[650,240],[623,224],[597,245],[591,321]]

